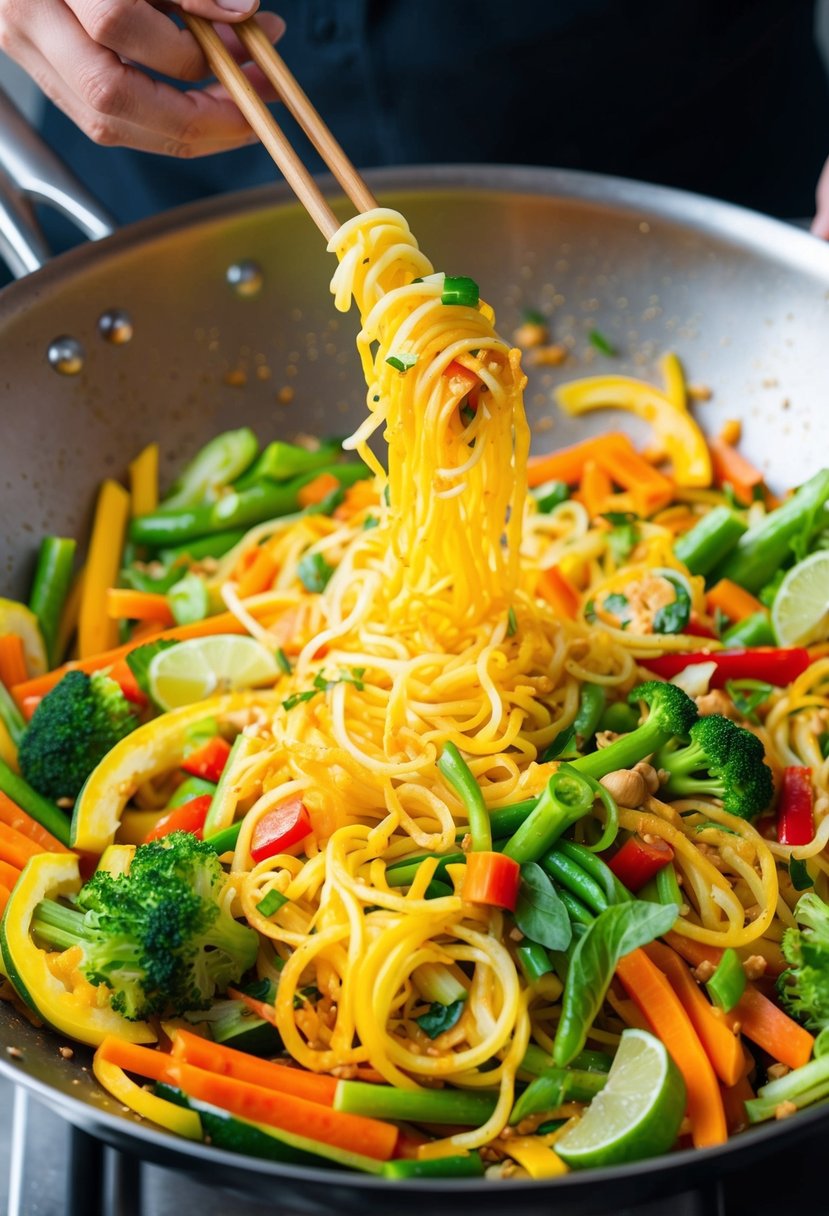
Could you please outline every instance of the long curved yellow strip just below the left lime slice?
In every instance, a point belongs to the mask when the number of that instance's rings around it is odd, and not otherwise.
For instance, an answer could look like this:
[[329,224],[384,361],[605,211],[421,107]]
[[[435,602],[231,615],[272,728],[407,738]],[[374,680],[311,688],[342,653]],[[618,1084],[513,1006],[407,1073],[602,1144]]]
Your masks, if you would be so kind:
[[146,781],[179,767],[187,731],[197,722],[214,717],[221,725],[238,710],[253,705],[273,709],[276,704],[277,698],[265,692],[225,693],[162,714],[132,731],[107,753],[78,795],[73,848],[101,854],[113,843],[130,798]]

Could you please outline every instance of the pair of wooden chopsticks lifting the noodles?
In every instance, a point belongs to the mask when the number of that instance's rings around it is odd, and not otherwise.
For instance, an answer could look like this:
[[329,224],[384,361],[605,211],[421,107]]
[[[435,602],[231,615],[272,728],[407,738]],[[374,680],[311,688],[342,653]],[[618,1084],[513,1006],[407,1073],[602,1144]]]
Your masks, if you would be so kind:
[[[210,71],[231,95],[248,123],[270,152],[277,168],[327,241],[340,227],[340,220],[326,202],[270,109],[253,88],[209,21],[191,13],[181,15],[198,41]],[[343,152],[325,122],[314,108],[281,55],[265,32],[250,18],[233,27],[242,45],[278,91],[286,108],[303,128],[314,147],[354,203],[357,212],[377,207],[377,201]]]

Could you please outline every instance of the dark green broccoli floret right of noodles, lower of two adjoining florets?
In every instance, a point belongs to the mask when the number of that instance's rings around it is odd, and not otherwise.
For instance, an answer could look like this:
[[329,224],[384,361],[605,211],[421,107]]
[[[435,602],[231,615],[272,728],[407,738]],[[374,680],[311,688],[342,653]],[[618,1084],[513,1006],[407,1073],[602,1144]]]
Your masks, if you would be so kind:
[[766,750],[756,734],[711,714],[694,722],[687,747],[667,744],[653,764],[669,773],[664,789],[670,796],[720,798],[731,815],[752,820],[766,810],[774,793],[765,761]]

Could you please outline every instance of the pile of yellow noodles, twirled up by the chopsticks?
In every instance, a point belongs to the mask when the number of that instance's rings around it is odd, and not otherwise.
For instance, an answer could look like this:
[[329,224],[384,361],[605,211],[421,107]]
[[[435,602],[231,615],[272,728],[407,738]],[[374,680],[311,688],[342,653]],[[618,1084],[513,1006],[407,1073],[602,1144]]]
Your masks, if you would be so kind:
[[[306,516],[246,537],[242,550],[271,546],[280,570],[271,591],[239,601],[226,581],[239,550],[219,572],[227,606],[254,636],[271,648],[299,640],[276,713],[248,727],[233,767],[224,812],[244,817],[230,890],[261,935],[260,974],[278,980],[276,1020],[291,1055],[340,1075],[368,1065],[402,1088],[500,1086],[487,1124],[451,1137],[470,1148],[503,1128],[528,1043],[551,1048],[560,984],[549,975],[528,987],[503,914],[463,903],[451,867],[456,893],[427,899],[434,860],[406,894],[389,885],[387,866],[457,849],[463,838],[464,810],[436,767],[447,742],[467,758],[490,809],[536,795],[552,771],[538,756],[573,721],[585,682],[621,698],[641,676],[637,658],[693,643],[557,619],[537,593],[546,568],[569,563],[597,589],[616,570],[580,503],[541,516],[528,502],[518,351],[496,334],[485,304],[441,303],[442,275],[397,213],[356,218],[331,248],[337,306],[354,299],[362,319],[368,415],[350,445],[377,480],[345,522]],[[405,371],[387,361],[401,355]],[[469,382],[451,365],[479,377],[474,411],[458,409]],[[388,472],[368,447],[376,432],[388,444]],[[671,511],[643,524],[626,576],[682,569],[672,537]],[[309,554],[334,568],[318,595],[298,590],[298,563]],[[689,589],[699,601],[701,586],[692,580]],[[763,739],[780,762],[819,767],[825,787],[829,761],[813,754],[799,715],[810,705],[827,713],[829,660],[778,696]],[[315,829],[304,856],[253,865],[256,822],[295,795]],[[687,901],[677,931],[779,958],[795,894],[791,850],[712,800],[650,799],[622,807],[620,822],[675,849]],[[829,817],[813,845],[794,850],[824,874],[828,834]],[[258,903],[271,889],[288,902],[265,917]],[[467,998],[456,1025],[430,1040],[414,1020],[424,1009],[417,975],[435,963]],[[591,1041],[613,1045],[619,1030],[605,1010]]]

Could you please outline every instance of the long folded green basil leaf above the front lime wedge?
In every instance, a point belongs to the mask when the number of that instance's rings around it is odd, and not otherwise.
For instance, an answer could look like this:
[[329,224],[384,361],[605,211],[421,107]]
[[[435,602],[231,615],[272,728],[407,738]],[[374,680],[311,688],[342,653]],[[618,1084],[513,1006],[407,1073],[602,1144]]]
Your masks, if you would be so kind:
[[679,914],[676,903],[616,903],[587,927],[570,958],[553,1059],[564,1068],[583,1049],[619,959],[667,933]]

